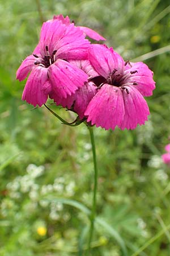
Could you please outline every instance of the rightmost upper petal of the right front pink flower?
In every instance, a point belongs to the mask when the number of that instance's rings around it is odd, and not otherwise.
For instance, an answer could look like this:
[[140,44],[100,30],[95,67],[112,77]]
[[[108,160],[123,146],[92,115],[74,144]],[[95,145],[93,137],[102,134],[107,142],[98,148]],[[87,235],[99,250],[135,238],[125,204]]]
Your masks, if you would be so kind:
[[[137,82],[137,85],[134,85],[136,89],[143,96],[151,96],[152,91],[155,89],[155,81],[153,80],[153,72],[148,68],[145,63],[137,62],[130,63],[132,67],[129,67],[128,72],[137,70],[137,73],[130,75],[127,79],[128,82]],[[126,71],[127,72],[127,71]]]

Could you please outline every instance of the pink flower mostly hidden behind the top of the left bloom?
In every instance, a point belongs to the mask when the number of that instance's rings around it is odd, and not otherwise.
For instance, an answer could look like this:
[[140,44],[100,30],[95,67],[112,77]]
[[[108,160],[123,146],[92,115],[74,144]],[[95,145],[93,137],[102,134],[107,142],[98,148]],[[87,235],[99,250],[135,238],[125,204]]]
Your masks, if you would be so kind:
[[[69,17],[66,16],[66,18],[64,18],[62,14],[55,15],[53,17],[53,20],[56,20],[56,19],[60,20],[63,24],[66,24],[67,26],[71,24]],[[49,20],[49,21],[52,22],[53,20]],[[88,28],[88,27],[79,27],[79,28],[84,32],[84,35],[85,36],[87,35],[89,38],[92,38],[96,41],[106,40],[105,38],[103,38],[103,36],[99,35],[96,31],[92,30],[91,28]]]

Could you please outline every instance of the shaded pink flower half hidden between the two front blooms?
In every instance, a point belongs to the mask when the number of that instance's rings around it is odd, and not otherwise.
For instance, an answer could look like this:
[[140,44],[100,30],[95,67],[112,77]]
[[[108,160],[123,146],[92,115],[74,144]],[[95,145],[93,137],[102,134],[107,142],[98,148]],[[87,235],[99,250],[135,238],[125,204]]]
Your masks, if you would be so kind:
[[[75,91],[74,94],[68,96],[67,98],[54,98],[57,105],[63,106],[63,108],[73,110],[79,115],[80,119],[84,118],[84,112],[97,92],[97,86],[92,81],[94,77],[98,77],[99,74],[92,68],[89,60],[72,60],[71,64],[82,69],[88,75],[88,82],[84,82],[84,85]],[[91,80],[91,81],[90,81]]]

